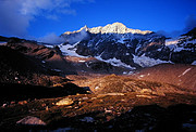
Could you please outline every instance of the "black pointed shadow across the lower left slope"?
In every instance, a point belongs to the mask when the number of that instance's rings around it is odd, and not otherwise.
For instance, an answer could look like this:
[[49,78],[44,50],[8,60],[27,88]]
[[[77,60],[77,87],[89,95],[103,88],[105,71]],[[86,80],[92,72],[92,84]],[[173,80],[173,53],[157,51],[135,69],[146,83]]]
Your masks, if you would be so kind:
[[35,98],[51,98],[76,93],[87,93],[86,90],[73,83],[64,83],[63,87],[47,88],[41,85],[19,84],[19,83],[0,83],[0,104],[11,101],[24,101]]

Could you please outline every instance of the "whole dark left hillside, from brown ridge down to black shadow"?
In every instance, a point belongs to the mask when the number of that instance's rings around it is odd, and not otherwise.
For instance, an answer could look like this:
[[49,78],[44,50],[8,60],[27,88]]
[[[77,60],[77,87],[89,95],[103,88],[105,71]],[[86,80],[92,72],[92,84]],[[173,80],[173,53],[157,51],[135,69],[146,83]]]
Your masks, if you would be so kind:
[[58,49],[17,38],[7,39],[0,45],[0,105],[86,93],[64,77],[75,70]]

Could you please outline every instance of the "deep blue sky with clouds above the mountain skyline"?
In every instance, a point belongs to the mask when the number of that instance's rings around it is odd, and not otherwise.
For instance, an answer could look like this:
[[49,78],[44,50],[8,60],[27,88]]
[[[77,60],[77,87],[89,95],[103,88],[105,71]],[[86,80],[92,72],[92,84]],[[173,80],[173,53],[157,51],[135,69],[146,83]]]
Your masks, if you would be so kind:
[[196,0],[0,0],[0,35],[41,38],[114,22],[180,34],[196,26],[195,5]]

